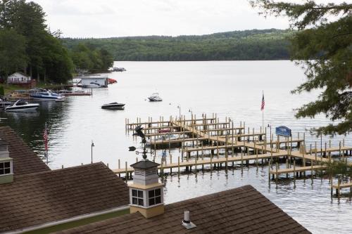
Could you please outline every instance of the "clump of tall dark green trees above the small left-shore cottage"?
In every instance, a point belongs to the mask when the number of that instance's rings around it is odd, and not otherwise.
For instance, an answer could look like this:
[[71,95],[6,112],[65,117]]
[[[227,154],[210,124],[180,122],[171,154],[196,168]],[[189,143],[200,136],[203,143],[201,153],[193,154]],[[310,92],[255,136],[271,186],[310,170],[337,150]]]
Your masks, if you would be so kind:
[[[10,63],[6,63],[0,58],[3,74],[23,70],[38,82],[42,77],[44,82],[54,83],[65,83],[72,77],[73,64],[68,51],[46,30],[44,16],[42,7],[32,1],[0,1],[0,30],[11,32],[11,37],[17,39],[12,47],[18,47],[12,53],[17,60],[9,58]],[[0,53],[11,55],[8,52],[11,50],[11,44],[8,44],[0,48]]]

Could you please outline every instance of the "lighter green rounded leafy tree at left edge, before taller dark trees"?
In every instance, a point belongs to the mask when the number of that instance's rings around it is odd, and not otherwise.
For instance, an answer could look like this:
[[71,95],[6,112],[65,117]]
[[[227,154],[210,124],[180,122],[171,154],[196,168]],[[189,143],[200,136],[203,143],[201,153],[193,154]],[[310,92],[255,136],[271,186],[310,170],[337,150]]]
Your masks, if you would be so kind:
[[0,30],[0,71],[7,78],[11,72],[26,66],[25,37],[15,30]]

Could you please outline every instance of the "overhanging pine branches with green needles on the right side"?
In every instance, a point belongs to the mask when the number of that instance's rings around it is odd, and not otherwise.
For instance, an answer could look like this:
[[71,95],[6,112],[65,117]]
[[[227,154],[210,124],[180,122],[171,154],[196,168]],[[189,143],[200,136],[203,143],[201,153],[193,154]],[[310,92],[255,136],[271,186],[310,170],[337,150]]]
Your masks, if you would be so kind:
[[352,4],[303,4],[272,0],[251,1],[260,14],[287,15],[292,29],[291,60],[305,67],[307,81],[292,93],[322,89],[318,99],[298,108],[297,118],[323,113],[332,124],[316,134],[352,131]]

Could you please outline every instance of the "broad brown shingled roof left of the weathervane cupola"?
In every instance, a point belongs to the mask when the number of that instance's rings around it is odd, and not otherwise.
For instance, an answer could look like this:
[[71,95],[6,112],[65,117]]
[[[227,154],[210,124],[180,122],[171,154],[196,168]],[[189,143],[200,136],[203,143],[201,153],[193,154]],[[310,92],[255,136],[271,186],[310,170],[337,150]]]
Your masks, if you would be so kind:
[[0,191],[0,233],[129,204],[126,184],[101,162],[15,176]]

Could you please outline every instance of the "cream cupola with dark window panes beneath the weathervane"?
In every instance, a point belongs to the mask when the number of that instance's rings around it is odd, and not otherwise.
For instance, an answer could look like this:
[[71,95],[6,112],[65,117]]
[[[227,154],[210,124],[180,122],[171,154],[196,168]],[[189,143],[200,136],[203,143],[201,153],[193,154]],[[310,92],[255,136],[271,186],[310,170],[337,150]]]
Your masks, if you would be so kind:
[[134,168],[130,187],[130,213],[139,212],[146,219],[164,213],[163,183],[158,181],[158,163],[142,160]]

